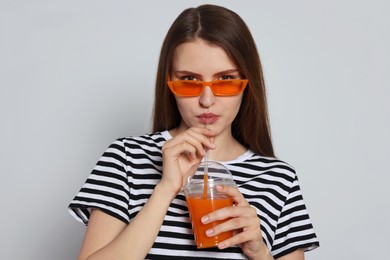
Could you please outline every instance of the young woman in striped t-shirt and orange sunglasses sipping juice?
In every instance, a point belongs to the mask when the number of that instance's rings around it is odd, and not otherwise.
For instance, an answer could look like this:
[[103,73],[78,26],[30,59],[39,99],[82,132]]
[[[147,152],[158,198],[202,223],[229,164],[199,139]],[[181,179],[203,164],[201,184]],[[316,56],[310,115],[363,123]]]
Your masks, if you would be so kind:
[[[207,123],[207,128],[205,124]],[[185,176],[209,158],[232,172],[234,206],[203,216],[234,230],[196,249]],[[69,205],[88,224],[79,259],[304,259],[319,246],[295,171],[275,158],[264,80],[242,19],[219,6],[182,12],[164,40],[153,132],[116,140]]]

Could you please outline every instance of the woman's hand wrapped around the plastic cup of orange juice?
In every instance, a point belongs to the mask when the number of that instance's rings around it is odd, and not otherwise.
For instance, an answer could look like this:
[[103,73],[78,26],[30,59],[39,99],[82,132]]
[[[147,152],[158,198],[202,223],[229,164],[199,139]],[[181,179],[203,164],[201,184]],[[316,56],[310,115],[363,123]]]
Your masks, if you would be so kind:
[[231,196],[234,206],[226,207],[202,217],[203,224],[216,220],[228,221],[206,231],[208,236],[234,230],[234,236],[218,244],[219,249],[238,245],[249,259],[273,259],[265,245],[260,228],[260,219],[256,209],[245,200],[236,187],[218,186],[219,191]]

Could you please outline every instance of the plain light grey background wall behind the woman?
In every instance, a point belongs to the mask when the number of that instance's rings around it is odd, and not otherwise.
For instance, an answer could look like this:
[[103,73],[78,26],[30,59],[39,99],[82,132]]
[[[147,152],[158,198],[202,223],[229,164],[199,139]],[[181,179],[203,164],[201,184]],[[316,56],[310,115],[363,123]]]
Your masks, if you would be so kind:
[[[67,204],[114,139],[150,130],[163,37],[204,2],[0,0],[0,259],[77,257]],[[321,240],[307,259],[388,259],[389,2],[209,2],[257,41]]]

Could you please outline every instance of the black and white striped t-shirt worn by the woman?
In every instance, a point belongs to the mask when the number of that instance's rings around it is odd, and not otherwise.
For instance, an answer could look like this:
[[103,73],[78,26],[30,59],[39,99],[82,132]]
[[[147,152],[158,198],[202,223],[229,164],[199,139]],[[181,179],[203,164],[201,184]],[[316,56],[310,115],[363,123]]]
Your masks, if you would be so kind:
[[[92,208],[130,223],[146,203],[162,174],[162,146],[168,131],[120,138],[102,155],[69,205],[88,224]],[[291,166],[251,151],[222,162],[240,192],[256,208],[263,240],[275,258],[295,249],[319,246]],[[147,223],[145,223],[147,224]],[[246,259],[240,247],[197,249],[184,194],[172,201],[146,259]]]

